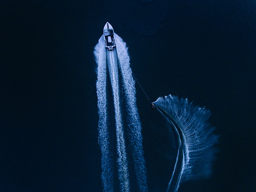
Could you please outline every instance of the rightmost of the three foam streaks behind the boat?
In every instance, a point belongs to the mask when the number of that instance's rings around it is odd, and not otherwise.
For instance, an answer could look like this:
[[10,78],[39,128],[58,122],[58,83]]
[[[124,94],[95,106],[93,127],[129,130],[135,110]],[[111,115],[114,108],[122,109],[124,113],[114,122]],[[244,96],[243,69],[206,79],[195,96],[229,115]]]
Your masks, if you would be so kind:
[[130,132],[130,146],[132,148],[134,169],[140,191],[148,191],[145,159],[143,157],[141,123],[135,97],[135,82],[130,68],[130,58],[123,39],[116,36],[117,56],[121,69],[123,86],[125,90],[125,103],[127,107],[128,126]]

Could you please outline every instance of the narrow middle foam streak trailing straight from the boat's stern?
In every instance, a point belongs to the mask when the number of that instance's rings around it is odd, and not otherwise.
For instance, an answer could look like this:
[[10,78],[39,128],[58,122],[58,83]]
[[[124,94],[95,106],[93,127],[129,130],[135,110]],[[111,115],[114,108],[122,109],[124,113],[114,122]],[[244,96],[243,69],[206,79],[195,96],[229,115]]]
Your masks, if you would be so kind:
[[109,68],[110,82],[113,90],[115,119],[116,119],[116,141],[117,141],[117,163],[118,163],[118,177],[120,181],[120,190],[129,191],[129,172],[128,163],[126,159],[124,129],[122,124],[121,105],[119,98],[119,84],[118,84],[118,66],[116,50],[107,52],[107,63]]

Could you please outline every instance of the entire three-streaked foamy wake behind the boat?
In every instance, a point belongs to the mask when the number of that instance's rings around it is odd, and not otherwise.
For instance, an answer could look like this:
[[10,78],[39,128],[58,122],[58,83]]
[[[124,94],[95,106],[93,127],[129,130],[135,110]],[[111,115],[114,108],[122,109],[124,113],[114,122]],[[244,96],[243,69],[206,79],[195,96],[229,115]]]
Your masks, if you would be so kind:
[[[116,34],[115,34],[116,35]],[[99,145],[101,148],[102,183],[104,191],[147,191],[146,167],[143,157],[141,123],[135,98],[126,44],[116,35],[116,50],[105,50],[103,36],[94,48],[98,65],[97,95],[99,109]],[[109,75],[113,94],[115,127],[110,127],[107,103]],[[111,102],[111,101],[110,101]],[[116,149],[113,149],[110,132],[116,130]],[[113,153],[115,153],[113,155]],[[117,173],[115,170],[117,162]],[[115,174],[118,181],[115,180]],[[136,179],[132,178],[135,177]],[[130,180],[135,182],[130,182]],[[115,182],[118,182],[116,185]],[[116,189],[116,188],[119,189]]]

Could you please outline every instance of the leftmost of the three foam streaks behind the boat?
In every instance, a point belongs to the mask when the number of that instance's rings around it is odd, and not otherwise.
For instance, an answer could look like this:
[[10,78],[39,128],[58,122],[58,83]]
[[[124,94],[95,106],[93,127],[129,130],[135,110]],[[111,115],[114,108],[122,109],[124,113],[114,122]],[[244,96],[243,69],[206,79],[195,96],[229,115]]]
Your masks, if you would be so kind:
[[110,155],[110,141],[107,126],[107,98],[106,98],[106,52],[103,36],[94,47],[95,61],[97,62],[97,96],[99,113],[99,145],[101,149],[101,179],[104,191],[114,191],[113,159]]

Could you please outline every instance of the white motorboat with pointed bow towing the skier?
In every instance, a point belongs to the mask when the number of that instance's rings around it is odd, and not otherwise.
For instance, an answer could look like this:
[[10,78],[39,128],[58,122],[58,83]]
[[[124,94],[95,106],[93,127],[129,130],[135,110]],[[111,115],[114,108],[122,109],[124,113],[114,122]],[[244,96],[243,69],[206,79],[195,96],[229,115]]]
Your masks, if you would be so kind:
[[114,51],[116,48],[115,33],[114,33],[113,27],[110,25],[109,22],[107,22],[103,28],[103,35],[104,35],[106,50]]

